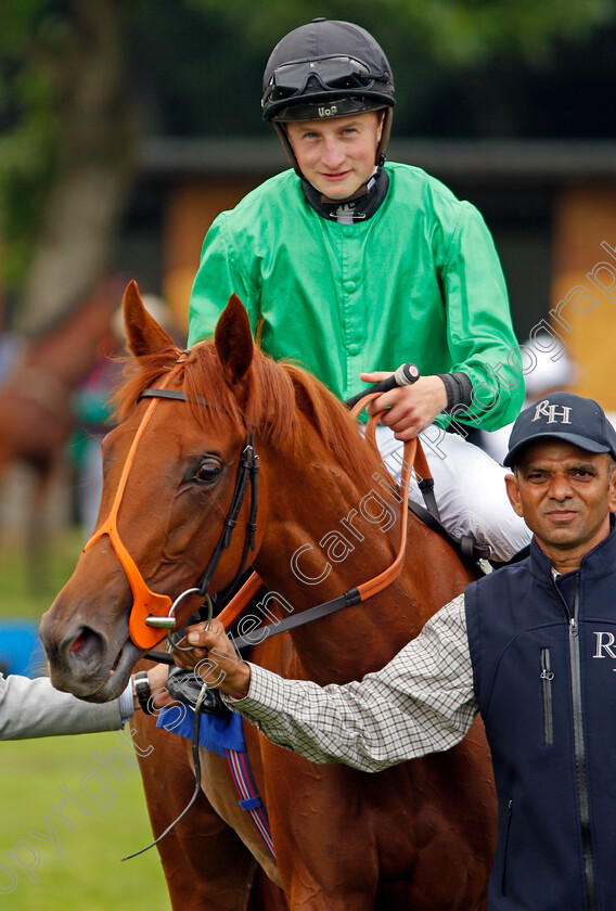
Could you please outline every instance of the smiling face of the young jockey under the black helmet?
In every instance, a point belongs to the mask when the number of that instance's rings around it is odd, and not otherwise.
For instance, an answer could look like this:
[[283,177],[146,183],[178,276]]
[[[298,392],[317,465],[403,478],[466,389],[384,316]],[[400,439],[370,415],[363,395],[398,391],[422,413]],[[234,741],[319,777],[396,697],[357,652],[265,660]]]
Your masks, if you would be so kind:
[[301,174],[331,200],[352,196],[374,170],[381,111],[332,120],[290,120],[285,127]]

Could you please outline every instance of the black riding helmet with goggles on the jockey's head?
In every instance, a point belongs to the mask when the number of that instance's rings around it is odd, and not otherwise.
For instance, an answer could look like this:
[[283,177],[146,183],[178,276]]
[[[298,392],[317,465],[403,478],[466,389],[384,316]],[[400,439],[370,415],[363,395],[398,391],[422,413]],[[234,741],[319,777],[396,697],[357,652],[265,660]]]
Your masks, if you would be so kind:
[[316,18],[295,28],[275,46],[264,73],[264,120],[273,121],[296,170],[282,123],[385,108],[375,158],[382,165],[395,103],[392,67],[381,46],[350,22]]

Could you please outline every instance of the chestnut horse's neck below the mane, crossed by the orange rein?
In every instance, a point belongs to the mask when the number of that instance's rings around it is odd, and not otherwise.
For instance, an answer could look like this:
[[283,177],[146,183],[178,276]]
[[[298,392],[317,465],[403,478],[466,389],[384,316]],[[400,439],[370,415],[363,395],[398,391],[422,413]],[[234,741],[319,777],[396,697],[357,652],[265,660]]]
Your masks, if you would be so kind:
[[[291,452],[270,454],[267,474],[269,515],[255,565],[269,590],[284,596],[281,616],[336,598],[393,563],[401,505],[378,480],[367,490],[354,483],[352,471],[316,462],[306,453],[299,460]],[[381,522],[375,522],[380,511]],[[348,680],[381,667],[463,588],[464,570],[447,548],[445,586],[431,579],[431,550],[437,561],[442,559],[438,539],[435,546],[419,524],[411,526],[409,537],[405,568],[393,585],[292,633],[308,677]]]

